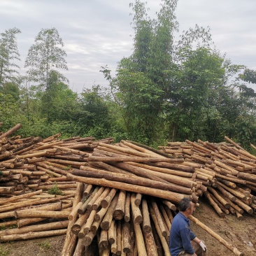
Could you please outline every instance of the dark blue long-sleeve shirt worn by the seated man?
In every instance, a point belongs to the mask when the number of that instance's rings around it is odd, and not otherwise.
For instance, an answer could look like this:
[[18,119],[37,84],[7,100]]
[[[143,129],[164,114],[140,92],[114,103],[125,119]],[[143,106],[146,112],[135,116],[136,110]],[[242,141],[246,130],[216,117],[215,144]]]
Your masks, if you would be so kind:
[[171,233],[169,237],[171,256],[177,256],[183,250],[188,254],[194,254],[190,241],[195,237],[196,235],[190,231],[190,220],[179,212],[171,223]]

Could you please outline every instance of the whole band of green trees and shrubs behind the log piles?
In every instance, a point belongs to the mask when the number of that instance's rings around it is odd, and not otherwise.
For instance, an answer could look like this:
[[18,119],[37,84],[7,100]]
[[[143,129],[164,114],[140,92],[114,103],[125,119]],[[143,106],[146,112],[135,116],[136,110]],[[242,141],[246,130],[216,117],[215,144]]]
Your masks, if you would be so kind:
[[[166,141],[220,142],[224,136],[248,148],[256,139],[256,72],[232,64],[216,50],[208,28],[178,34],[178,1],[164,0],[155,19],[145,3],[131,4],[134,50],[120,60],[109,82],[77,94],[60,71],[67,69],[57,29],[42,29],[29,48],[26,76],[8,29],[0,37],[0,130],[22,123],[22,136],[113,136],[148,145]],[[33,84],[33,85],[31,85]]]

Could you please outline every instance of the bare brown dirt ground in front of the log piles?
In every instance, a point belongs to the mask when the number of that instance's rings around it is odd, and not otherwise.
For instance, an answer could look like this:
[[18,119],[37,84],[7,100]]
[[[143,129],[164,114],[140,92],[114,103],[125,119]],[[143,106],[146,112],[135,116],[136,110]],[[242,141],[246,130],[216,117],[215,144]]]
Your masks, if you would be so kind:
[[[220,218],[211,206],[200,199],[200,207],[194,212],[206,226],[210,227],[222,239],[235,246],[245,256],[256,255],[256,215],[245,215],[245,220],[237,220],[234,215]],[[233,256],[234,253],[214,239],[206,231],[191,223],[192,231],[204,240],[208,256]],[[55,236],[29,241],[15,241],[0,244],[0,256],[60,256],[65,236]]]

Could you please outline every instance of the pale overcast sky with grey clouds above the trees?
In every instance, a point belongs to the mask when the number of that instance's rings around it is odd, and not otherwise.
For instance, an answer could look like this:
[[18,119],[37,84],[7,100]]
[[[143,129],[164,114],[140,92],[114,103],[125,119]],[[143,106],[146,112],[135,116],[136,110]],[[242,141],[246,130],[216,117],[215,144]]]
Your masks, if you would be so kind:
[[[134,0],[135,1],[135,0]],[[20,67],[41,29],[55,27],[64,42],[69,71],[62,71],[74,92],[92,85],[108,85],[101,66],[115,71],[133,46],[133,0],[0,0],[0,32],[13,27],[17,35]],[[150,13],[159,11],[161,0],[148,0]],[[198,24],[209,26],[213,41],[233,64],[256,69],[255,0],[180,0],[176,17],[180,31]],[[150,17],[154,17],[150,15]],[[256,87],[254,88],[256,90]]]

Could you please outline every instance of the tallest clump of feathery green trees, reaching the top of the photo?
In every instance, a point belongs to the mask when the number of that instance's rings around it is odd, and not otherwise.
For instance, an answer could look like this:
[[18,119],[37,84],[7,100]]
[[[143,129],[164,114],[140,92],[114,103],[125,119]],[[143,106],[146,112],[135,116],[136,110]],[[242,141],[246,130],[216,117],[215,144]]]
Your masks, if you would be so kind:
[[173,91],[180,83],[180,50],[199,39],[201,45],[211,41],[209,31],[198,26],[175,40],[177,3],[163,0],[155,19],[148,16],[145,3],[131,3],[134,51],[120,61],[115,78],[110,78],[108,69],[103,70],[123,107],[128,133],[143,143],[152,144],[163,136],[166,113],[171,112],[166,106],[171,106]]

